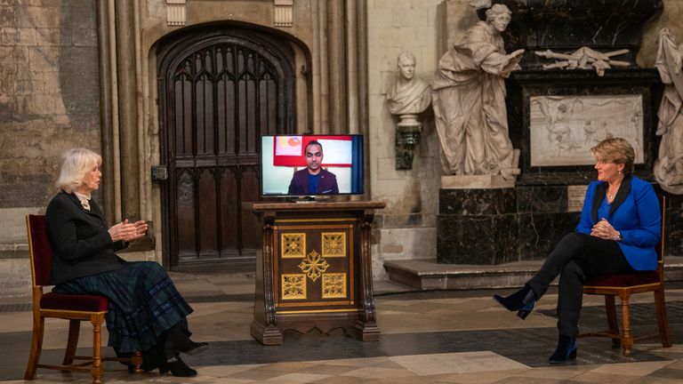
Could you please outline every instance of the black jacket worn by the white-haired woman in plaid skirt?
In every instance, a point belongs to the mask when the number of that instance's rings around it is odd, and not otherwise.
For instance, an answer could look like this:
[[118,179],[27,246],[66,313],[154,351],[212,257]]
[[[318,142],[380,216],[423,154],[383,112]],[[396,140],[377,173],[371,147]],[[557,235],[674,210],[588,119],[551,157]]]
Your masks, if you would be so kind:
[[52,244],[52,284],[121,268],[114,253],[128,243],[111,241],[108,223],[100,207],[90,200],[86,211],[78,197],[61,191],[45,212],[47,235]]

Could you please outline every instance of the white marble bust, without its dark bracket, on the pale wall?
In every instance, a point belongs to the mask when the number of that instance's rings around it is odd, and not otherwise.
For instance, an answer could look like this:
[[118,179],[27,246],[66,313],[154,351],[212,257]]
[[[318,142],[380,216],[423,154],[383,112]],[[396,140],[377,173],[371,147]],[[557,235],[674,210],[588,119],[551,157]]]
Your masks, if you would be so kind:
[[402,125],[419,125],[417,114],[431,104],[430,84],[415,76],[415,57],[412,52],[398,55],[398,78],[387,92],[387,102],[392,115],[401,118]]

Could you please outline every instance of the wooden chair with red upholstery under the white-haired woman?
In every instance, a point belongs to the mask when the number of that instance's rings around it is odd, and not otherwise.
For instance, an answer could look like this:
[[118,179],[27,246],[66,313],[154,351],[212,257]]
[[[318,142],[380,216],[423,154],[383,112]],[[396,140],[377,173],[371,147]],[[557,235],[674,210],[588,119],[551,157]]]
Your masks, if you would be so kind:
[[[136,352],[129,359],[101,356],[101,328],[109,306],[106,297],[43,292],[43,287],[50,285],[52,272],[52,247],[45,229],[45,216],[27,215],[26,228],[33,281],[33,333],[24,379],[33,380],[36,376],[36,368],[47,368],[62,372],[90,372],[92,383],[100,384],[104,372],[103,361],[127,362],[133,364],[134,372],[142,372],[140,352]],[[69,323],[67,349],[61,365],[39,364],[46,317],[66,319]],[[76,356],[78,333],[82,321],[89,321],[92,324],[92,356]],[[76,364],[74,360],[85,360],[85,362]]]

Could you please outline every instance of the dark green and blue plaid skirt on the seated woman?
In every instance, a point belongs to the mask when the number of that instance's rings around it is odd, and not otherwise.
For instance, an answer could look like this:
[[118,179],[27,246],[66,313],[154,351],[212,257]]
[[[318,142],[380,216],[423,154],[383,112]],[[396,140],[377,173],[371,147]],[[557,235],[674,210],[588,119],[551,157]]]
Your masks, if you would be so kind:
[[57,284],[53,292],[98,294],[109,300],[108,345],[118,353],[145,351],[167,329],[181,323],[192,308],[157,262],[124,262],[121,268]]

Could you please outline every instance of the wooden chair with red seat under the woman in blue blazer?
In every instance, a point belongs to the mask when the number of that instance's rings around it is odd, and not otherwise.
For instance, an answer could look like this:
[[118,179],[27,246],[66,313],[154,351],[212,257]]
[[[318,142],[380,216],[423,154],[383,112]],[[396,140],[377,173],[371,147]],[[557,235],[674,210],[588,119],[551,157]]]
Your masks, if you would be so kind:
[[[637,340],[659,338],[664,348],[671,347],[671,334],[669,321],[666,318],[666,301],[664,300],[664,228],[666,197],[659,196],[660,209],[662,210],[662,238],[657,244],[658,266],[654,271],[642,271],[628,275],[596,276],[583,283],[583,293],[605,296],[605,308],[607,310],[607,325],[609,329],[603,332],[587,332],[578,337],[599,336],[612,339],[615,347],[623,348],[623,356],[631,356],[633,342]],[[631,334],[631,307],[629,300],[631,294],[654,292],[655,312],[659,333],[633,337]],[[616,320],[615,297],[619,296],[622,301],[622,332]]]

